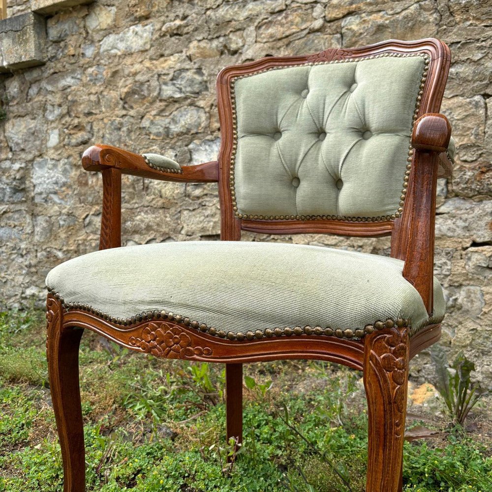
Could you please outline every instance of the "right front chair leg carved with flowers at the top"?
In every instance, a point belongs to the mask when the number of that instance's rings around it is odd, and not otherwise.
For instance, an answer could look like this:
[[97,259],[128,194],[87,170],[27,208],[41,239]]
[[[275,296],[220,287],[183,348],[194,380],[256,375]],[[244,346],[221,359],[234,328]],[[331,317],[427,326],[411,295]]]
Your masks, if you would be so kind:
[[408,389],[409,329],[386,328],[364,342],[369,492],[400,492]]

